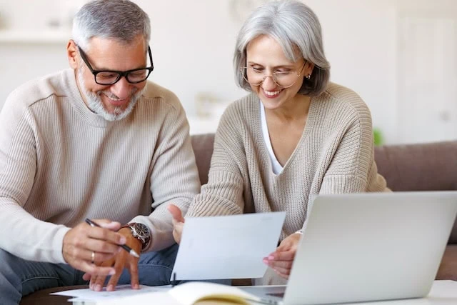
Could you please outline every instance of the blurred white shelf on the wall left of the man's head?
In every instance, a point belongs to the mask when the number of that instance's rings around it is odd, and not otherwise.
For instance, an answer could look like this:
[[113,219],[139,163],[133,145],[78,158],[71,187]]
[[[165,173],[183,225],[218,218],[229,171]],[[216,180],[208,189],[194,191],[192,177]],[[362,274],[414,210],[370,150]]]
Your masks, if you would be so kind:
[[0,30],[0,44],[66,44],[70,38],[71,31],[64,30]]

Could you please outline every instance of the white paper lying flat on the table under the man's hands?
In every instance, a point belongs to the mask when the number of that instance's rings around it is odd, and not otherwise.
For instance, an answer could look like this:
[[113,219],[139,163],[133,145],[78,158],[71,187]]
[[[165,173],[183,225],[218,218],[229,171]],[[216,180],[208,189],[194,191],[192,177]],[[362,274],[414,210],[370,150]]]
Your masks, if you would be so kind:
[[170,285],[167,286],[144,286],[140,285],[140,289],[131,289],[131,285],[119,285],[116,286],[114,291],[106,291],[104,288],[102,291],[93,291],[91,289],[74,289],[54,292],[59,296],[73,296],[73,299],[69,301],[100,301],[106,299],[116,299],[126,296],[133,296],[136,294],[145,294],[152,291],[169,291]]

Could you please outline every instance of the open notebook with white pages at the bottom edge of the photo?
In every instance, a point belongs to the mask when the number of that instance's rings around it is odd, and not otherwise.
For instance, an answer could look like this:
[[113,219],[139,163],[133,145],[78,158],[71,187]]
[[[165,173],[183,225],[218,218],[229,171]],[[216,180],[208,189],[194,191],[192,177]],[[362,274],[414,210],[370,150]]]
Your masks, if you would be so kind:
[[[168,292],[154,291],[137,294],[119,299],[99,301],[96,305],[125,305],[125,304],[258,304],[261,298],[243,291],[235,286],[192,281],[174,286]],[[269,304],[274,304],[269,303]]]

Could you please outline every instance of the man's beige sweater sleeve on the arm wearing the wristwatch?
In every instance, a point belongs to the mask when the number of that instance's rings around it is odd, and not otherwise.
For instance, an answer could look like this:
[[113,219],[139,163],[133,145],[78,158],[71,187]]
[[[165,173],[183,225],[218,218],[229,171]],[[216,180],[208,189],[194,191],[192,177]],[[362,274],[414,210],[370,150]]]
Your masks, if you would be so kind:
[[171,107],[165,121],[151,174],[154,213],[132,219],[151,229],[151,244],[145,251],[158,251],[174,244],[172,217],[166,207],[175,204],[185,215],[199,190],[198,169],[184,109]]

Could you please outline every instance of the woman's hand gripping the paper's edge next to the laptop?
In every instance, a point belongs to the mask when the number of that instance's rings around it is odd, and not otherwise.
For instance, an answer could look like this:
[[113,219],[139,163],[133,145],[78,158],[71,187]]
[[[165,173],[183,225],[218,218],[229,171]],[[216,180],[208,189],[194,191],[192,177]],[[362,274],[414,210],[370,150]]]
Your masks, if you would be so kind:
[[288,279],[301,234],[294,233],[281,241],[276,251],[263,258],[263,263],[271,267],[278,276]]

